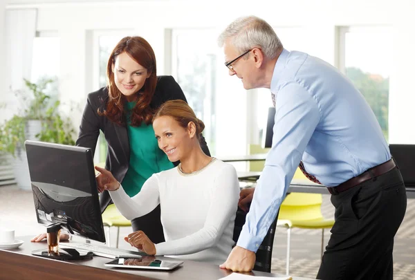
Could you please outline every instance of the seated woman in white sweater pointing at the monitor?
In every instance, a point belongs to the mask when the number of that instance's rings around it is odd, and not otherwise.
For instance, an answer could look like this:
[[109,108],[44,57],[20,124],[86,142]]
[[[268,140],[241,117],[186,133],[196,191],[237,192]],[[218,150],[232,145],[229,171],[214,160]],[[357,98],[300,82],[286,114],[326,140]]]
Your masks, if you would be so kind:
[[101,174],[100,192],[108,190],[128,219],[161,207],[165,242],[154,244],[145,232],[124,238],[151,255],[169,255],[221,264],[232,250],[234,219],[239,200],[237,172],[232,165],[206,156],[200,145],[204,124],[183,100],[165,102],[153,118],[158,147],[178,167],[151,176],[130,198],[110,171]]

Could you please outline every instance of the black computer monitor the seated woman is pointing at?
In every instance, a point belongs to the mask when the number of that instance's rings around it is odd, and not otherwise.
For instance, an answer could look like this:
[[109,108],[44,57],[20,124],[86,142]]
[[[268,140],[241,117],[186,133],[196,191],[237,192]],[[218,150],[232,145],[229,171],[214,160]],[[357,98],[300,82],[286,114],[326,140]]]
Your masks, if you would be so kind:
[[91,149],[30,140],[25,145],[37,222],[60,223],[105,242]]

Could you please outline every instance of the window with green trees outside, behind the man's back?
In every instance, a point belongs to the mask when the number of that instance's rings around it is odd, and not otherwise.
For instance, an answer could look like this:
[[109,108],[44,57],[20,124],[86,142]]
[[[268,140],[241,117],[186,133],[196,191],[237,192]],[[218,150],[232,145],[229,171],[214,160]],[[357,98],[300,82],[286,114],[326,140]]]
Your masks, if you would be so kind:
[[371,106],[388,139],[389,76],[393,50],[390,27],[339,28],[339,68]]

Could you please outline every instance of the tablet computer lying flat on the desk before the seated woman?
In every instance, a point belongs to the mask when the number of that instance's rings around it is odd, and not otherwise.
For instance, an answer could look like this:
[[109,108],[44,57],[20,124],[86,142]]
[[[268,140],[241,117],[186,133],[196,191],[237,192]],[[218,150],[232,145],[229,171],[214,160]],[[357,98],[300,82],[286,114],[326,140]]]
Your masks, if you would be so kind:
[[154,256],[142,256],[141,258],[131,258],[131,257],[120,257],[114,259],[109,263],[105,263],[105,266],[112,268],[136,268],[136,269],[146,269],[146,270],[173,270],[174,268],[181,265],[183,261],[169,260],[164,261],[156,259]]

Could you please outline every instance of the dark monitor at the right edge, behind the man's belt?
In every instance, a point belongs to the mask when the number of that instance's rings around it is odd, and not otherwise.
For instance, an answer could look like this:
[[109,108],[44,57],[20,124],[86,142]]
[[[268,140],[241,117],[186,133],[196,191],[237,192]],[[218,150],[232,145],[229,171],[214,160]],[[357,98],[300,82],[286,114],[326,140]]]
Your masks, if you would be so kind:
[[406,187],[415,187],[415,144],[389,144]]

